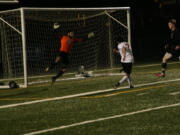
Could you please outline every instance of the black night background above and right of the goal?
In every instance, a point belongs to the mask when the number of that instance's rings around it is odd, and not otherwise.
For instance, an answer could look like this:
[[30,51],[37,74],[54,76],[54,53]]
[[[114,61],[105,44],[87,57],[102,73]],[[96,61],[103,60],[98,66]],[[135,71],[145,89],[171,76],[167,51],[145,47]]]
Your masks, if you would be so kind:
[[169,35],[168,20],[180,25],[180,0],[20,0],[0,10],[19,7],[131,7],[132,48],[136,62],[161,61]]

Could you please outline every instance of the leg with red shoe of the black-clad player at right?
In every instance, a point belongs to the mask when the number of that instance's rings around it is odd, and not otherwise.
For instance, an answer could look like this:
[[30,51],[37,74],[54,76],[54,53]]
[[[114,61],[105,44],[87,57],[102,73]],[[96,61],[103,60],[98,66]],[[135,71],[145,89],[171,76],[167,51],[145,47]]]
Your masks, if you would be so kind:
[[163,59],[162,59],[162,64],[161,64],[161,66],[162,66],[162,72],[156,74],[157,76],[165,77],[165,75],[166,75],[166,69],[167,69],[167,61],[168,61],[170,58],[172,58],[172,56],[173,56],[173,55],[172,55],[171,53],[168,53],[168,52],[165,53],[165,55],[164,55],[164,57],[163,57]]

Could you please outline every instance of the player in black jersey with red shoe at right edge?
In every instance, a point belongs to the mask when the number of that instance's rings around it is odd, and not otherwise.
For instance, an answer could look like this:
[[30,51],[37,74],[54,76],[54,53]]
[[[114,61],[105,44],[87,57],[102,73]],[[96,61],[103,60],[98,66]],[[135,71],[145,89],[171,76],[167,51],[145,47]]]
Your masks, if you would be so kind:
[[180,56],[180,31],[176,28],[176,20],[170,19],[168,27],[171,31],[170,37],[165,45],[166,53],[162,59],[162,72],[157,73],[158,77],[165,77],[167,61],[173,56]]

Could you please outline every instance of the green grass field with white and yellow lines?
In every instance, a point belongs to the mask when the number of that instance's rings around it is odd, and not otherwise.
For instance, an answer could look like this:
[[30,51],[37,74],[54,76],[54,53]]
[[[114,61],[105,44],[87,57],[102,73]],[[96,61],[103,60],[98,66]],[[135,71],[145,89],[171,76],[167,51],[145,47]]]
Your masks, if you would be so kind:
[[0,90],[0,135],[179,135],[179,66],[158,78],[160,64],[135,65],[133,89],[101,76]]

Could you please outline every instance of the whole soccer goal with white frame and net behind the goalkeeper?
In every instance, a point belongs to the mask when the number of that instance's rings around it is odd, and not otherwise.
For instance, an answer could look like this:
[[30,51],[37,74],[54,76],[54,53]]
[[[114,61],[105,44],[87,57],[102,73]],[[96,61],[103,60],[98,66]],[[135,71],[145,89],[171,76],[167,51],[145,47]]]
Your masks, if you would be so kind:
[[74,44],[68,72],[80,65],[87,70],[111,69],[120,63],[112,53],[117,40],[131,41],[130,7],[113,8],[20,8],[0,12],[0,78],[15,80],[21,87],[46,82],[61,65],[46,73],[60,47],[54,24],[61,34],[74,31],[75,37],[94,37]]

